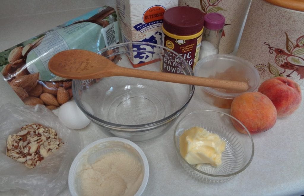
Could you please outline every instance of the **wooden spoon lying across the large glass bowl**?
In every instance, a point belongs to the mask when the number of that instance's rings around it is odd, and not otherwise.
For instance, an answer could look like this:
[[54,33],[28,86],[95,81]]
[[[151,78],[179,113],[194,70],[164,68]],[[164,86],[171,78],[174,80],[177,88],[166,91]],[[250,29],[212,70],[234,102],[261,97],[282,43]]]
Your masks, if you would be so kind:
[[58,52],[50,59],[48,66],[52,73],[67,79],[97,79],[109,76],[129,76],[238,91],[246,91],[248,89],[248,85],[245,82],[120,67],[104,56],[79,49]]

